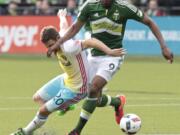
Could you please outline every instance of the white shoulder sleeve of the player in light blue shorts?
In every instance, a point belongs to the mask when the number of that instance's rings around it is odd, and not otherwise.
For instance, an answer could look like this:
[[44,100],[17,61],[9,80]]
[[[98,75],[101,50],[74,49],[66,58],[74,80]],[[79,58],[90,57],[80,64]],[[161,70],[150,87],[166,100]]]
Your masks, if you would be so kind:
[[70,39],[61,46],[61,49],[66,54],[77,55],[82,51],[81,41]]

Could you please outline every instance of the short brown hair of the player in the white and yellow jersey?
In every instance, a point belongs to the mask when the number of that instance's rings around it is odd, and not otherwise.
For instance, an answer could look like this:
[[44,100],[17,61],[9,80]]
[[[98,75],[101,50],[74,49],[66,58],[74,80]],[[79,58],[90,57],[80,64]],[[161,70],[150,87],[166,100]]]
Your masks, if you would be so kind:
[[57,40],[57,37],[59,36],[58,31],[53,26],[46,26],[43,27],[41,30],[41,42],[47,43],[50,39]]

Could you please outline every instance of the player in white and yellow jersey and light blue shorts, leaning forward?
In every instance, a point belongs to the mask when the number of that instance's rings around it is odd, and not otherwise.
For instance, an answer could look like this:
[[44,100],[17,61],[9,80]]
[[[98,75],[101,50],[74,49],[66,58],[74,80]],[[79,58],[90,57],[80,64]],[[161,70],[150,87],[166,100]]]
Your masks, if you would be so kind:
[[[58,16],[61,20],[61,33],[64,33],[68,27],[66,12],[61,10]],[[41,41],[49,48],[61,38],[60,35],[54,27],[47,26],[41,31]],[[34,100],[41,104],[39,111],[26,127],[18,129],[11,135],[31,135],[44,125],[49,114],[56,110],[64,110],[86,97],[90,73],[84,49],[88,47],[100,49],[111,56],[125,54],[124,49],[110,49],[97,39],[84,41],[70,39],[59,45],[55,55],[65,73],[53,78],[35,93]]]

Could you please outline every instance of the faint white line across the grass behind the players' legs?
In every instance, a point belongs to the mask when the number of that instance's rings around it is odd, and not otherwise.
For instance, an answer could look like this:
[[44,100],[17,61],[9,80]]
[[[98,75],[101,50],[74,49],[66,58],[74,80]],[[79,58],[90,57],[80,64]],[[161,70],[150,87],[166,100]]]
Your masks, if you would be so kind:
[[[170,104],[130,104],[126,105],[126,107],[174,107],[180,106],[180,103],[170,103]],[[78,109],[81,106],[77,106]],[[29,111],[29,110],[37,110],[38,107],[0,107],[0,111]]]

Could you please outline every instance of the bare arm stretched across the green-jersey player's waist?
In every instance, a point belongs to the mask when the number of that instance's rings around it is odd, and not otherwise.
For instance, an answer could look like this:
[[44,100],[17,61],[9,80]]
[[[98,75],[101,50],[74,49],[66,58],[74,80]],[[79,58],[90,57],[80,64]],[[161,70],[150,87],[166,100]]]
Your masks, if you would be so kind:
[[125,49],[123,48],[110,49],[103,42],[95,38],[82,41],[82,47],[83,48],[96,48],[98,50],[105,52],[107,55],[111,55],[111,56],[122,56],[126,54]]

